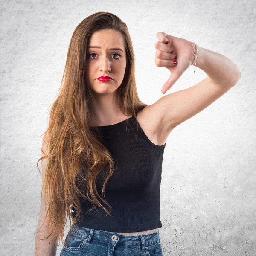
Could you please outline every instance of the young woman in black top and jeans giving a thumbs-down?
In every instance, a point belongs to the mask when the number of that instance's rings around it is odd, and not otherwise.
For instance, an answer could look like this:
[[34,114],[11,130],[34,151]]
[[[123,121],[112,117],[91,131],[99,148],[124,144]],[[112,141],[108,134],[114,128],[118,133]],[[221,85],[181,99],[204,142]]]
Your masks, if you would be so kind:
[[[42,144],[42,200],[35,255],[163,255],[160,181],[170,132],[230,90],[241,74],[221,54],[158,32],[157,67],[171,71],[162,93],[190,65],[200,83],[140,101],[126,24],[97,12],[75,29],[61,90]],[[73,222],[73,224],[72,224]]]

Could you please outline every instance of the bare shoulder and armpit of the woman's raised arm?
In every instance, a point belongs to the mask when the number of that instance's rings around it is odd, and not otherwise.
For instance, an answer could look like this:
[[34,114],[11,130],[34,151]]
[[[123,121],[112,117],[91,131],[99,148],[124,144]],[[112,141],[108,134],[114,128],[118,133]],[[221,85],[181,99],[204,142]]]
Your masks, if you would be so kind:
[[137,114],[140,127],[151,142],[156,145],[164,145],[170,134],[163,127],[163,116],[157,105],[148,105]]

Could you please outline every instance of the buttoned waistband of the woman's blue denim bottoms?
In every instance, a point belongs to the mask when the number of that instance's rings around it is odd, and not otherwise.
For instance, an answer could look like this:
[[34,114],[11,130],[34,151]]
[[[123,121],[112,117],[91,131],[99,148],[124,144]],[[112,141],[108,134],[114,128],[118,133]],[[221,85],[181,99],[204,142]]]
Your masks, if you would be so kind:
[[99,241],[114,246],[118,244],[118,246],[136,246],[145,248],[146,246],[160,243],[159,231],[146,235],[120,235],[115,232],[96,230],[81,226],[76,227],[74,224],[72,224],[71,230],[80,236],[83,236],[87,242]]

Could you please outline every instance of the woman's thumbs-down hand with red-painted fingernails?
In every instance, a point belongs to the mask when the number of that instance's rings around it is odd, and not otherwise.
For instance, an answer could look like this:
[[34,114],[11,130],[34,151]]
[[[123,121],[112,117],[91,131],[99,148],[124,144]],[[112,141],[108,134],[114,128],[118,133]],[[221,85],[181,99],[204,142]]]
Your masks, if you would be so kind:
[[[165,94],[193,63],[195,56],[192,43],[186,39],[167,35],[164,32],[157,32],[157,38],[159,41],[155,44],[157,49],[155,64],[157,67],[166,67],[171,71],[171,76],[161,90]],[[176,61],[176,64],[174,64],[174,61]]]

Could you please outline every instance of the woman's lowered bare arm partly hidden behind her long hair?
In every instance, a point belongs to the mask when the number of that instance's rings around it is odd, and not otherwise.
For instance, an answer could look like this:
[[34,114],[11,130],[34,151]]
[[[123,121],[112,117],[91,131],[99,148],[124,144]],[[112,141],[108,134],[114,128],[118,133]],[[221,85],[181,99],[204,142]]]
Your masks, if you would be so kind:
[[[47,135],[44,136],[43,143],[42,143],[42,150],[44,152],[47,151]],[[41,156],[44,156],[44,153],[42,152]],[[47,158],[45,158],[42,162],[42,185],[44,183],[44,176],[45,176],[45,168],[47,166]],[[44,195],[42,195],[44,198]],[[44,217],[46,215],[45,212],[45,206],[44,201],[41,199],[41,206],[40,206],[40,212],[39,212],[39,218],[38,218],[38,226],[35,236],[35,256],[55,256],[57,245],[55,245],[56,240],[52,238],[41,240],[42,238],[47,237],[50,232],[43,232],[43,230],[47,226],[47,222],[45,221],[42,227],[39,229],[41,224],[44,221]]]

